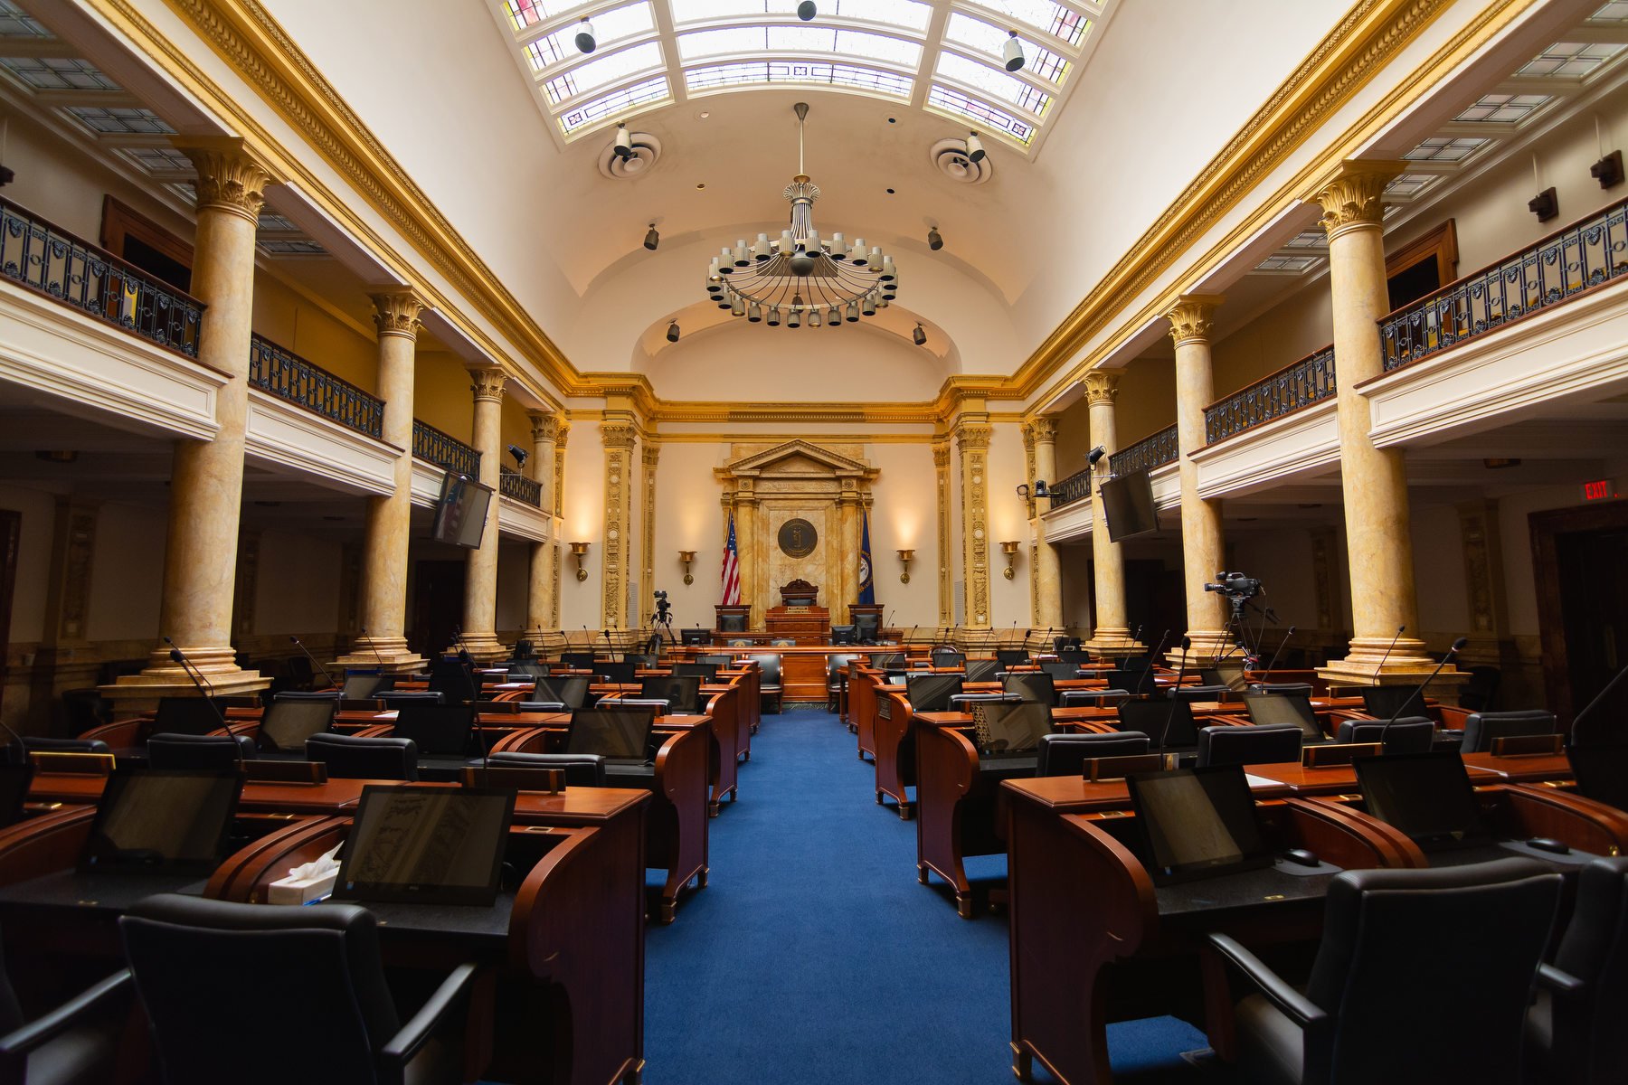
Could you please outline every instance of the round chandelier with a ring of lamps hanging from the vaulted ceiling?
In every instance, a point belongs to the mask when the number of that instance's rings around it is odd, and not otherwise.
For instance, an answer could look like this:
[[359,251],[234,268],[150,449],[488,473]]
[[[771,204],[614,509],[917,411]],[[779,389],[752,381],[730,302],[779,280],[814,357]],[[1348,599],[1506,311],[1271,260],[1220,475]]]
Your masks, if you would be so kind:
[[863,237],[848,244],[842,234],[821,237],[814,229],[819,185],[803,172],[803,125],[807,102],[798,114],[798,176],[786,185],[791,228],[780,237],[757,234],[723,249],[707,268],[707,293],[731,316],[770,327],[838,327],[843,320],[873,317],[899,296],[899,270],[881,246]]

